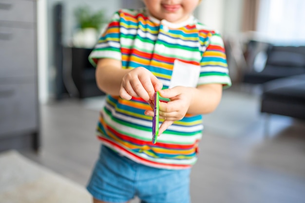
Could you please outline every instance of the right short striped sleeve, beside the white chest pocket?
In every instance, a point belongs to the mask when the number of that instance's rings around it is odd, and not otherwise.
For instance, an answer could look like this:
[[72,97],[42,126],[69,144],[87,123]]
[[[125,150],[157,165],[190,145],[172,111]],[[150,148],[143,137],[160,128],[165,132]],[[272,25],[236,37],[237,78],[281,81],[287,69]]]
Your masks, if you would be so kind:
[[219,34],[210,33],[202,47],[198,85],[218,83],[231,86],[224,42]]

